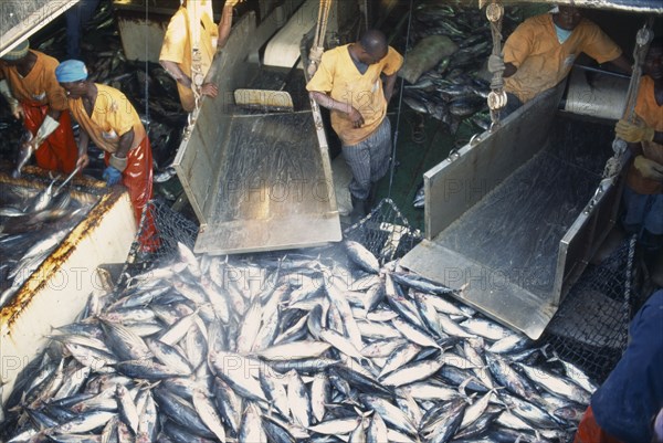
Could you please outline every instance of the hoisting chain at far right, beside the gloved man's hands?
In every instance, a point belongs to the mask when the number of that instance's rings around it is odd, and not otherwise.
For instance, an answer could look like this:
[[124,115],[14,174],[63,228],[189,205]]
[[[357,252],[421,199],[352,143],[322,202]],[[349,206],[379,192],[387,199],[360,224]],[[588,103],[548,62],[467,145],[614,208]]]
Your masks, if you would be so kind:
[[[631,74],[631,81],[629,83],[629,89],[627,92],[627,101],[624,105],[624,112],[622,118],[635,123],[635,103],[638,101],[638,92],[640,89],[640,80],[642,77],[642,64],[644,57],[649,51],[650,43],[654,38],[652,27],[654,24],[653,17],[649,18],[644,25],[638,31],[635,35],[635,48],[633,49],[633,73]],[[619,137],[614,137],[612,140],[613,155],[606,161],[603,168],[603,178],[612,179],[622,169],[623,161],[625,161],[627,155],[627,143]]]

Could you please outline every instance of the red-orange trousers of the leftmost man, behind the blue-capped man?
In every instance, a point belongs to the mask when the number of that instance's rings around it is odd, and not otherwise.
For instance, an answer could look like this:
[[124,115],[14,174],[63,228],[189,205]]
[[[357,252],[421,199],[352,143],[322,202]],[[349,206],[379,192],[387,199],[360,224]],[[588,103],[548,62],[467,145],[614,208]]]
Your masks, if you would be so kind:
[[[21,106],[25,113],[23,125],[34,136],[46,117],[49,106],[33,105],[27,102],[21,103]],[[63,110],[60,114],[59,122],[60,126],[57,126],[57,129],[34,152],[34,159],[36,160],[36,166],[42,169],[70,173],[76,168],[78,149],[74,139],[72,118],[69,110]]]

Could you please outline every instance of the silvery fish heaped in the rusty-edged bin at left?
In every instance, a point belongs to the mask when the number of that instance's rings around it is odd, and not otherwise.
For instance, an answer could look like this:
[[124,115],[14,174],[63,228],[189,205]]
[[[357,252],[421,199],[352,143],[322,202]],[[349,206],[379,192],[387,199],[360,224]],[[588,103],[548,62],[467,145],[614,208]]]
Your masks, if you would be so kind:
[[90,211],[57,179],[38,191],[2,183],[0,308]]

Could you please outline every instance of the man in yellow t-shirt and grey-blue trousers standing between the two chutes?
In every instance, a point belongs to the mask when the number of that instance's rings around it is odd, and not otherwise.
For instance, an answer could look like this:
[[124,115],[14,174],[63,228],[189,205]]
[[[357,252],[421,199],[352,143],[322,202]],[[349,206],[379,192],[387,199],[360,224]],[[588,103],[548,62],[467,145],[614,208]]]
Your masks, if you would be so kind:
[[352,171],[352,221],[366,215],[371,188],[389,168],[387,104],[402,64],[403,57],[387,44],[385,34],[369,30],[356,43],[326,51],[306,85],[311,97],[330,109],[332,127]]

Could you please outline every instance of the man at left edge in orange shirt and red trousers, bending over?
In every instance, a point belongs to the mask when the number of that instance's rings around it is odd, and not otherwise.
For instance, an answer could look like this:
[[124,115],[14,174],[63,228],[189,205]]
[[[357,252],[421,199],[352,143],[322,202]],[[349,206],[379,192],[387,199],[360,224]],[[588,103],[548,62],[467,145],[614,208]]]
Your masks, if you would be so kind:
[[63,113],[67,101],[55,78],[57,64],[52,56],[30,50],[24,40],[0,61],[0,92],[33,136],[25,148],[34,152],[36,166],[69,173],[76,167],[76,141],[70,115]]

